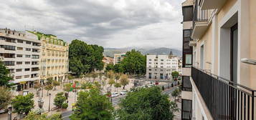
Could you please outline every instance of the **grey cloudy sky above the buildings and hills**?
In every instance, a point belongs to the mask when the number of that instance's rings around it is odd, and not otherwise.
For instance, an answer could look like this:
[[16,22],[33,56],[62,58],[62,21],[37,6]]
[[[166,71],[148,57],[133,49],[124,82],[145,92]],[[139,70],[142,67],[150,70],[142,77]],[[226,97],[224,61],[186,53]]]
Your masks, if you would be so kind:
[[181,49],[184,0],[5,0],[0,27],[104,47]]

